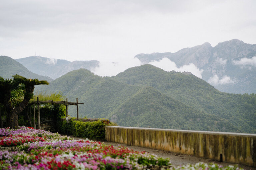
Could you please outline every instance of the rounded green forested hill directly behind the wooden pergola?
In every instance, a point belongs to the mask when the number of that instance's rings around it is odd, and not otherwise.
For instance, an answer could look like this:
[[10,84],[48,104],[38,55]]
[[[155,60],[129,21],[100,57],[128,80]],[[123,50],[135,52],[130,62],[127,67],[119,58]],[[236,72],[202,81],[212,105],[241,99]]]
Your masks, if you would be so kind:
[[[69,101],[78,98],[84,103],[79,105],[80,116],[90,118],[108,118],[114,108],[142,88],[105,79],[85,69],[71,71],[42,87],[48,92],[63,92]],[[37,89],[41,90],[41,87]],[[70,106],[69,110],[75,113],[76,107]]]

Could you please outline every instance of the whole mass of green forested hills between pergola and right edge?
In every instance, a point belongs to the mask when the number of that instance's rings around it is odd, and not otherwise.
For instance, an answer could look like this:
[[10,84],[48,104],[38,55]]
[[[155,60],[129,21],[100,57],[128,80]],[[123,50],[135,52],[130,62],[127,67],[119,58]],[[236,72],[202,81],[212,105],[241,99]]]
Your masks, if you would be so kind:
[[[228,94],[204,80],[146,64],[113,77],[71,71],[43,89],[79,102],[80,117],[121,126],[256,132],[256,95]],[[76,107],[69,108],[76,115]]]

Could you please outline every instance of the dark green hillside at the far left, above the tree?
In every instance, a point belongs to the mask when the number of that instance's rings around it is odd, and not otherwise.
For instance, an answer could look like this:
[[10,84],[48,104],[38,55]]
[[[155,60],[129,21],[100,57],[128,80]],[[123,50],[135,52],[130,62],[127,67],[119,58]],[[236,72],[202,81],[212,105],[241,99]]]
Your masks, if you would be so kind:
[[47,80],[48,82],[52,81],[50,77],[41,76],[29,71],[21,63],[15,61],[8,56],[0,56],[0,76],[3,78],[12,78],[13,75],[19,74],[26,78]]

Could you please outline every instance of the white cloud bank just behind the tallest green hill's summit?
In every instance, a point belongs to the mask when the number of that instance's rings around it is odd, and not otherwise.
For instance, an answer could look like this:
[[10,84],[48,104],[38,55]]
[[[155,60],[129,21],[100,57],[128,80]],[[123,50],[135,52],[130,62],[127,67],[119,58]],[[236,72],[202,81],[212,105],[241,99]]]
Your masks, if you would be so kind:
[[162,68],[165,71],[172,71],[172,70],[181,71],[181,72],[188,71],[199,78],[202,78],[202,72],[204,71],[202,69],[200,70],[199,68],[197,68],[193,63],[190,63],[189,65],[183,65],[182,67],[178,68],[176,63],[171,61],[169,58],[163,58],[159,61],[152,61],[152,62],[149,62],[149,64]]

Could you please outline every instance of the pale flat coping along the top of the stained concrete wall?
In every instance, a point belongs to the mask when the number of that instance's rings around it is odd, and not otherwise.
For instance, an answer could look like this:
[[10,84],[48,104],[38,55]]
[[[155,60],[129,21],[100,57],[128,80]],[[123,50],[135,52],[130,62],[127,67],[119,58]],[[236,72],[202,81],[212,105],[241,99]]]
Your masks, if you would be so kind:
[[234,132],[219,132],[219,131],[199,131],[199,130],[178,130],[178,129],[160,129],[160,128],[138,128],[138,127],[121,127],[121,126],[106,126],[107,128],[126,128],[126,129],[141,129],[141,130],[156,130],[156,131],[173,131],[181,133],[201,133],[201,134],[216,134],[228,136],[243,136],[256,137],[255,133],[234,133]]

